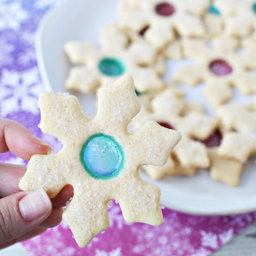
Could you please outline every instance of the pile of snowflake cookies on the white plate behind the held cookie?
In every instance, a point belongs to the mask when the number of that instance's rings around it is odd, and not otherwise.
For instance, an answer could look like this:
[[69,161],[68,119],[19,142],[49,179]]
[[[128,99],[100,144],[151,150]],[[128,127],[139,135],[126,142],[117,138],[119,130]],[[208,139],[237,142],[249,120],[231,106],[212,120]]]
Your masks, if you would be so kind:
[[[237,186],[244,163],[256,153],[255,0],[118,4],[118,19],[101,29],[98,46],[65,44],[74,64],[67,89],[97,94],[131,74],[141,112],[130,132],[151,119],[183,135],[165,166],[143,167],[145,172],[162,179],[204,168],[212,179]],[[189,101],[184,89],[197,94],[199,87],[203,93],[195,98],[202,97],[211,113],[202,101]]]

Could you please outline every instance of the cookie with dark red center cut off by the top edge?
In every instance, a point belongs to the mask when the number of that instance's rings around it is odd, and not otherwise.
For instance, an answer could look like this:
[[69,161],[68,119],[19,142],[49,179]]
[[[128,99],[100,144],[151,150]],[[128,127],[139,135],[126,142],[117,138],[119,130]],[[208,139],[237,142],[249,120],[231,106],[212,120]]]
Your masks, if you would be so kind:
[[208,0],[123,0],[120,24],[144,34],[157,48],[175,40],[175,30],[182,36],[202,36],[204,26],[199,17],[209,7]]

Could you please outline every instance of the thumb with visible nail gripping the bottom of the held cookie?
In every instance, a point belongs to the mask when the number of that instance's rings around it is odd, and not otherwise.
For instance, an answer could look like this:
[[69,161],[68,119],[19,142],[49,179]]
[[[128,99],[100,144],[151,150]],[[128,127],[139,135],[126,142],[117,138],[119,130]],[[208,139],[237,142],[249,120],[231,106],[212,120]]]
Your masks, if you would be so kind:
[[52,203],[43,189],[0,199],[0,244],[37,227],[51,213]]

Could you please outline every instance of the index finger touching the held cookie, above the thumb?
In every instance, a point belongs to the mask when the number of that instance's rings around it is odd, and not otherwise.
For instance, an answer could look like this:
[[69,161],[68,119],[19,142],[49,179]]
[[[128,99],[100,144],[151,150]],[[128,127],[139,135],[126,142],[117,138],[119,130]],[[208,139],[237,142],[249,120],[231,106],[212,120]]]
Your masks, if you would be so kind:
[[51,147],[36,138],[19,122],[0,118],[0,153],[11,151],[24,160],[34,154],[47,154]]

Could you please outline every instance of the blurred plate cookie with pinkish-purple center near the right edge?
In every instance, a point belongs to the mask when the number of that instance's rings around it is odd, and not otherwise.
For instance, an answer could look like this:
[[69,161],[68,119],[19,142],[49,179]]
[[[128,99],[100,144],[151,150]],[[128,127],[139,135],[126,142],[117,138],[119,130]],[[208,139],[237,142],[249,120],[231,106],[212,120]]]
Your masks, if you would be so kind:
[[232,86],[243,94],[256,93],[256,73],[251,72],[256,69],[256,53],[249,48],[237,53],[236,39],[219,37],[212,40],[212,47],[203,40],[188,39],[183,47],[195,65],[181,67],[174,81],[190,86],[205,81],[205,96],[215,106],[232,97]]

